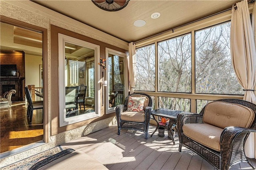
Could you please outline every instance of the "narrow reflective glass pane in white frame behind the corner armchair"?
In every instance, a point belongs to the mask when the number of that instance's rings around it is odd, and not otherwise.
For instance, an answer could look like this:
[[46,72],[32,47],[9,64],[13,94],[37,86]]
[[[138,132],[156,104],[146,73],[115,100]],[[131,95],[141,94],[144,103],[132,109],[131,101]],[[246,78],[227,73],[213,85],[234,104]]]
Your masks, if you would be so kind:
[[124,103],[124,57],[108,55],[108,107]]

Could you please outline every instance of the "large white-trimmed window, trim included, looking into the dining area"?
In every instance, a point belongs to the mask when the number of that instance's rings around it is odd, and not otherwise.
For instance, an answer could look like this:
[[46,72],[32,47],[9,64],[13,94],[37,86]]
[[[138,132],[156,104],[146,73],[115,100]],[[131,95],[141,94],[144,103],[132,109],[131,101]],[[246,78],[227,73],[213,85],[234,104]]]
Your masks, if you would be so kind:
[[60,127],[98,117],[100,46],[64,34],[58,45]]

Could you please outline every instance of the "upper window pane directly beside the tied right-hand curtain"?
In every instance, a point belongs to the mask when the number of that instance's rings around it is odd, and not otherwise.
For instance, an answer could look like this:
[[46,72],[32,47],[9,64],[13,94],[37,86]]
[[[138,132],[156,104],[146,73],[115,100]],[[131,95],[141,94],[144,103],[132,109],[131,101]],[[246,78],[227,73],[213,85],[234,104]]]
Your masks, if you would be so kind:
[[231,63],[230,22],[196,32],[196,93],[243,94]]

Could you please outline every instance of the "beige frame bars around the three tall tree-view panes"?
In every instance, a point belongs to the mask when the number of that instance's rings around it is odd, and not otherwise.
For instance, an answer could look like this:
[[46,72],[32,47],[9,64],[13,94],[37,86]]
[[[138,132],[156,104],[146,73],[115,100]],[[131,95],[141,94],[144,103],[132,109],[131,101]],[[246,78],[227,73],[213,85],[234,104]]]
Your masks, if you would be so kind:
[[[231,20],[231,10],[227,10],[225,12],[215,14],[209,16],[207,18],[186,24],[184,26],[180,26],[164,32],[163,34],[158,34],[154,37],[147,38],[145,40],[141,40],[136,44],[136,49],[141,48],[150,44],[155,44],[155,52],[156,52],[156,87],[155,91],[134,91],[147,93],[150,96],[155,97],[155,109],[158,108],[158,97],[173,97],[173,98],[183,98],[190,99],[190,111],[196,113],[196,100],[218,100],[218,99],[243,99],[243,95],[227,95],[227,94],[200,94],[195,93],[195,31],[206,29],[211,26],[219,25],[224,22],[228,22]],[[182,36],[184,34],[191,34],[191,93],[176,93],[176,92],[159,92],[158,91],[158,42],[162,42],[164,40],[168,40],[171,38],[175,38],[177,36]]]

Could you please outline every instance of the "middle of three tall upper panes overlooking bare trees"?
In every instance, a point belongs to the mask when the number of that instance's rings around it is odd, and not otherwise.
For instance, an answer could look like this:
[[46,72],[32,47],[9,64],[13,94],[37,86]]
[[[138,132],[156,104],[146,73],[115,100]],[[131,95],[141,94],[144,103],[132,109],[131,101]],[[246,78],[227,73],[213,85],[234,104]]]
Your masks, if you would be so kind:
[[159,91],[191,92],[191,34],[158,43]]

